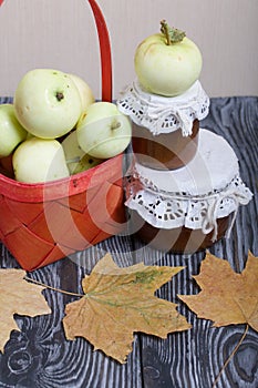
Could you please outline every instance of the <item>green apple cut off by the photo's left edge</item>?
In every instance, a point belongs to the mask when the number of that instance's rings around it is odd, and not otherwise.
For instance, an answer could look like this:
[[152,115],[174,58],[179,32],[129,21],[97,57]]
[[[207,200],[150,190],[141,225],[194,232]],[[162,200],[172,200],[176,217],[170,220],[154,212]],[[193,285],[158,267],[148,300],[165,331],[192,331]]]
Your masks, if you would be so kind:
[[27,137],[27,131],[16,118],[12,104],[0,105],[0,157],[9,156]]

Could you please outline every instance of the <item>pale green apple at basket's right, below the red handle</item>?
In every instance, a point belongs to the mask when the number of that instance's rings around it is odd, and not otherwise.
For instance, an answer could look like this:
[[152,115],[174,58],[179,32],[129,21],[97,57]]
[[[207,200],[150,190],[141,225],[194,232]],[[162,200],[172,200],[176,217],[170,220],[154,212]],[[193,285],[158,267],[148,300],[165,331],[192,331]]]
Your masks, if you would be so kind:
[[87,108],[76,125],[80,147],[99,159],[113,157],[123,152],[132,137],[132,125],[112,102],[95,102]]

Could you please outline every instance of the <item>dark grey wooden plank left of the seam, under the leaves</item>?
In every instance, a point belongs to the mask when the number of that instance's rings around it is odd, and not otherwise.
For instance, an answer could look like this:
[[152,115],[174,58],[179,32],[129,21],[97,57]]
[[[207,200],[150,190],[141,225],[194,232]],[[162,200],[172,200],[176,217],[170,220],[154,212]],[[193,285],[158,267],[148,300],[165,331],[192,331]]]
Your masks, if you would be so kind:
[[[99,244],[97,249],[89,248],[37,269],[29,276],[52,287],[81,293],[82,278],[90,274],[102,253],[110,251],[109,244],[123,246],[121,241],[111,241],[105,242],[103,247]],[[2,251],[3,267],[17,266],[7,249]],[[126,257],[123,265],[130,265]],[[127,363],[120,365],[101,351],[93,351],[93,346],[82,338],[74,341],[65,339],[62,327],[64,306],[76,297],[49,289],[44,290],[44,295],[52,308],[51,315],[35,318],[16,316],[21,333],[13,330],[4,354],[0,354],[0,387],[142,387],[137,336]]]

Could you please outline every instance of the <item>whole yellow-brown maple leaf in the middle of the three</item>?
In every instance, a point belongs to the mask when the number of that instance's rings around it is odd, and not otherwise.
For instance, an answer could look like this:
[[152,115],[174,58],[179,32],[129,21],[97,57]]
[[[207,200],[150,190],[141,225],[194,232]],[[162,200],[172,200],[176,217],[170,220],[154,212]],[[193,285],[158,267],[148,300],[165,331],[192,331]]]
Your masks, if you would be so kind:
[[124,363],[135,331],[166,338],[168,333],[188,329],[175,304],[154,296],[183,268],[143,263],[121,268],[105,255],[82,282],[85,295],[65,307],[66,338],[84,337],[94,349]]

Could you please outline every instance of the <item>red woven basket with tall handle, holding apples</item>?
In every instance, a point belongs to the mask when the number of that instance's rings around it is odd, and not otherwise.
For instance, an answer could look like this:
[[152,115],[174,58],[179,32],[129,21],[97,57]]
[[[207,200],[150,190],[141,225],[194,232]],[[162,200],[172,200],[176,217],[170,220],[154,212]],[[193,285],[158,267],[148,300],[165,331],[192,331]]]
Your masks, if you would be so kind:
[[[89,3],[100,41],[102,100],[112,101],[109,31],[97,3]],[[121,154],[47,184],[0,174],[0,239],[22,268],[32,270],[120,233],[125,221],[122,170]]]

